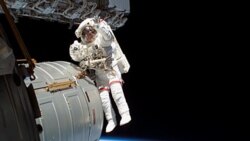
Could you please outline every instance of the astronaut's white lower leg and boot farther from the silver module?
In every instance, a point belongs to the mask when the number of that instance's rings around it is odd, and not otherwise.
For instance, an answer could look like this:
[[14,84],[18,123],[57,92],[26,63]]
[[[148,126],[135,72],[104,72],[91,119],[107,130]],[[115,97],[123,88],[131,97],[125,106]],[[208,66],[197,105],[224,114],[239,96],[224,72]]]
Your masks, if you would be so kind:
[[129,123],[131,121],[131,116],[129,113],[129,107],[126,102],[121,83],[120,82],[110,83],[110,89],[112,97],[121,115],[120,126]]

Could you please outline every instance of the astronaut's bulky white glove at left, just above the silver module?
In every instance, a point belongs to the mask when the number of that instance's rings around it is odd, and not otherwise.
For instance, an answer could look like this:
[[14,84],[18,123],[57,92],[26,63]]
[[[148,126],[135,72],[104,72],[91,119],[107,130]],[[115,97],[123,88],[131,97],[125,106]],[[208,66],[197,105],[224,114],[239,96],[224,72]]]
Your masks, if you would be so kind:
[[69,47],[69,54],[72,60],[80,62],[86,57],[84,45],[75,40]]

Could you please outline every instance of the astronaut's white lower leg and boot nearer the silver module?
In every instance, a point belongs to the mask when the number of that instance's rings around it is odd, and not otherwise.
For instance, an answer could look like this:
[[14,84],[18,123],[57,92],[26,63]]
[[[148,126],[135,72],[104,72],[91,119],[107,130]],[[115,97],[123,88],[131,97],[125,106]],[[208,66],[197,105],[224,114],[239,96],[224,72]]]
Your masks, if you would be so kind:
[[106,126],[106,133],[109,133],[114,130],[116,127],[116,117],[115,112],[112,108],[111,101],[109,98],[109,91],[108,90],[102,90],[100,92],[101,101],[102,101],[102,107],[105,114],[105,117],[108,121],[108,124]]

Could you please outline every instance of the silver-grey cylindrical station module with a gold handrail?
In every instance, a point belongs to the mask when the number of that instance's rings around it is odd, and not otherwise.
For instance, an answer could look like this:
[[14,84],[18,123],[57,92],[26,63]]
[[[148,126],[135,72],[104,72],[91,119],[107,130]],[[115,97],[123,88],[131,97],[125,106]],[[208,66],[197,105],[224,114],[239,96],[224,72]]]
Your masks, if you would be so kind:
[[98,89],[88,77],[81,79],[78,66],[65,61],[37,63],[32,85],[41,117],[41,141],[98,141],[103,109]]

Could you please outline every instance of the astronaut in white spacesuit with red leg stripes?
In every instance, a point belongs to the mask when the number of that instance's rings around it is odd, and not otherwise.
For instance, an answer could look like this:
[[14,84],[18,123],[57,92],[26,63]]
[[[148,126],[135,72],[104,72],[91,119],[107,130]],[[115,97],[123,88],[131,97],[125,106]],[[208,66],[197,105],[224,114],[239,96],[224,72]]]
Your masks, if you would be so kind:
[[106,132],[117,125],[109,92],[121,116],[120,126],[131,121],[129,107],[122,89],[121,72],[126,73],[129,64],[121,52],[110,26],[103,20],[87,18],[75,31],[81,42],[70,46],[70,56],[85,70],[95,71],[95,82],[99,89],[104,114],[108,124]]

